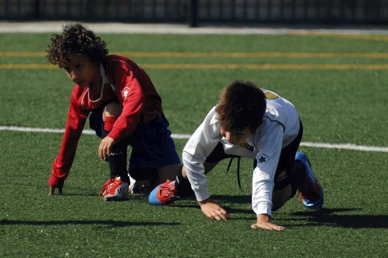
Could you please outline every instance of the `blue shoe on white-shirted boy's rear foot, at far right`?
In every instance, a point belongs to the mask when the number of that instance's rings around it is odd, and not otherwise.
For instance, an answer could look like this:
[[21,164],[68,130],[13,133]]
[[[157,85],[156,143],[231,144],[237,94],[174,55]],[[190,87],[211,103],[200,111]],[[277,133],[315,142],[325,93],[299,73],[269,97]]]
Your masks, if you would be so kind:
[[303,152],[296,152],[295,160],[302,161],[306,167],[305,178],[298,188],[306,209],[321,209],[323,206],[323,189],[311,168],[311,163]]

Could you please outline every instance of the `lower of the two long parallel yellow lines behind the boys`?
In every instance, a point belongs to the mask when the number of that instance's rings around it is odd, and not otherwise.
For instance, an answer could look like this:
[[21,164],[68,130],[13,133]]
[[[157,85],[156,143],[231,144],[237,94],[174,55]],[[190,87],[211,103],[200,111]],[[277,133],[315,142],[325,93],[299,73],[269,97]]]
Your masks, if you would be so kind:
[[[142,64],[145,69],[388,70],[388,64]],[[51,64],[0,64],[0,69],[58,69]]]

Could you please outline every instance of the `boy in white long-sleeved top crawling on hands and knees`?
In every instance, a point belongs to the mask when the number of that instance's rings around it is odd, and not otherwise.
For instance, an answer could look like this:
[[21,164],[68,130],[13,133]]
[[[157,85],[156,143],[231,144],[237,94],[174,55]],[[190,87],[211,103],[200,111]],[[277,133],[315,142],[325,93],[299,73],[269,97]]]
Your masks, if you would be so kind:
[[170,204],[194,191],[206,216],[227,220],[229,214],[210,197],[205,174],[223,159],[246,157],[254,160],[252,209],[257,222],[251,228],[283,230],[271,223],[271,212],[297,190],[307,209],[323,206],[323,190],[310,161],[297,152],[302,134],[298,113],[288,100],[249,81],[233,81],[184,147],[184,166],[176,181],[156,187],[148,201]]

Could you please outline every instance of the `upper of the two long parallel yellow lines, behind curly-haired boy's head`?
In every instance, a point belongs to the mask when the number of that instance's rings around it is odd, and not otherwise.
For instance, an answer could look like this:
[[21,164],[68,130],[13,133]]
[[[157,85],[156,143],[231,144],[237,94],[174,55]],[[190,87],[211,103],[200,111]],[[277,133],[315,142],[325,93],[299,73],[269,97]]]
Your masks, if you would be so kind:
[[[177,57],[177,58],[388,58],[388,53],[309,53],[309,52],[112,52],[130,57]],[[0,51],[0,57],[45,57],[45,52],[8,52]]]

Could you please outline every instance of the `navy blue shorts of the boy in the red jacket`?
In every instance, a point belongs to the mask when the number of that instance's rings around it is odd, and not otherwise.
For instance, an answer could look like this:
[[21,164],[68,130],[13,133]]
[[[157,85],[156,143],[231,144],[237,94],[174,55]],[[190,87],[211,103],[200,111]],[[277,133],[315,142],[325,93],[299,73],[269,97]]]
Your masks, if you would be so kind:
[[[100,138],[103,138],[102,111],[104,106],[101,105],[89,116],[90,128],[95,130],[96,135]],[[129,169],[158,168],[180,163],[168,126],[169,123],[164,116],[148,124],[139,121],[135,131],[122,140],[132,146]]]

